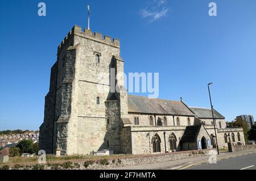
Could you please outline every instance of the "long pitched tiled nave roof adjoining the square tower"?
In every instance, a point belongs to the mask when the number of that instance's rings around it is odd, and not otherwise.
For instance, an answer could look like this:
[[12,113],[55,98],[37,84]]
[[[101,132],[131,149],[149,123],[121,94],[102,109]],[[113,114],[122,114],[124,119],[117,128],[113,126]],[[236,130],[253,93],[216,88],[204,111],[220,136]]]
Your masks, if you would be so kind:
[[128,95],[128,112],[194,116],[182,102]]

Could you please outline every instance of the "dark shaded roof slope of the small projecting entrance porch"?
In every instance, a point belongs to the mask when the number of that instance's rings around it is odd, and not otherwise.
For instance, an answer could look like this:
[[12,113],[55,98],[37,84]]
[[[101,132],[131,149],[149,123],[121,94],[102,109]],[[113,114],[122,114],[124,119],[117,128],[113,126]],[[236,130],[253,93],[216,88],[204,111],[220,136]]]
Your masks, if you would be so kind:
[[194,142],[199,134],[201,125],[186,127],[183,136],[181,137],[181,142]]

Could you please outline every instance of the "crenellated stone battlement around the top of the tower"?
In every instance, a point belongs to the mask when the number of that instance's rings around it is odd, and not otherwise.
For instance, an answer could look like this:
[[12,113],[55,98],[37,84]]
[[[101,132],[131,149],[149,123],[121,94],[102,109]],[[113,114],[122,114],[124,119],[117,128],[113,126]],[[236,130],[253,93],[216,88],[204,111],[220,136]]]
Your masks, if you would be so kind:
[[58,47],[58,52],[64,47],[64,45],[71,39],[72,36],[77,35],[81,37],[85,37],[86,39],[98,41],[103,44],[110,45],[112,47],[120,48],[120,42],[118,39],[112,39],[110,36],[104,36],[102,37],[101,33],[98,32],[92,32],[88,29],[85,29],[82,31],[82,28],[80,26],[74,26],[72,30],[68,33],[68,35],[61,41],[59,47]]

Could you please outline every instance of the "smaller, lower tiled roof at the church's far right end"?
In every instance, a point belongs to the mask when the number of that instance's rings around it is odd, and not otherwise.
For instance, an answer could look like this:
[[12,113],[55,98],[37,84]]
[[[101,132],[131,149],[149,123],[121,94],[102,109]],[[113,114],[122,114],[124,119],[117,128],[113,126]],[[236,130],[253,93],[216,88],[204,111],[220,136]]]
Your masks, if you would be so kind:
[[[208,108],[189,107],[199,119],[212,119],[212,110]],[[213,115],[216,119],[225,119],[220,113],[213,109]]]

